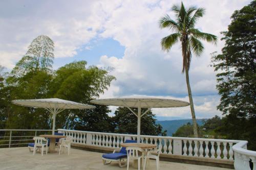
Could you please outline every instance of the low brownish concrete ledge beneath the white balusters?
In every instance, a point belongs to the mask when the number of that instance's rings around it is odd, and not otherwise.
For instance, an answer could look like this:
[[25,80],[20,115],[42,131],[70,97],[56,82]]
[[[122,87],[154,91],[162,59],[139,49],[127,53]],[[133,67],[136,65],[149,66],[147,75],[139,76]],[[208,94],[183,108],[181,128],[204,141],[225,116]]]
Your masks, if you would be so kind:
[[[112,153],[115,150],[114,148],[103,148],[103,147],[97,147],[94,145],[85,145],[85,144],[79,144],[79,143],[72,143],[71,146],[72,148],[75,148],[75,149],[81,149],[81,150],[99,152],[99,153]],[[202,157],[160,154],[160,160],[234,169],[233,161],[225,160],[225,159],[210,159],[210,158],[202,158]]]

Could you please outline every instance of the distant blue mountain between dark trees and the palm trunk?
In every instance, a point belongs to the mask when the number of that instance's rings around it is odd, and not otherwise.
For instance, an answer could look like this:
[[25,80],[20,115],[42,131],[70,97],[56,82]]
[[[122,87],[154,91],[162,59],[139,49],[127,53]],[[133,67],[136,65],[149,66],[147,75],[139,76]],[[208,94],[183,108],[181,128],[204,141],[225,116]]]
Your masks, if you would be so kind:
[[[199,126],[203,125],[203,119],[197,119],[197,124]],[[157,120],[156,123],[163,127],[163,130],[167,130],[167,136],[172,136],[173,133],[179,129],[179,127],[190,122],[192,124],[192,119],[182,119],[182,120]]]

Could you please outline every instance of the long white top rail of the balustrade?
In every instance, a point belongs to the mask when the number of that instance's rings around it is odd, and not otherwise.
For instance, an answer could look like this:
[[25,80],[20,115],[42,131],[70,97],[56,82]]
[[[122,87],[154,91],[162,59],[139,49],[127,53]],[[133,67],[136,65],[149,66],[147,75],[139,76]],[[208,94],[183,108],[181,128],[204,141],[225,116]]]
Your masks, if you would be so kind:
[[[78,133],[90,133],[90,134],[104,134],[104,135],[119,135],[119,136],[133,136],[136,137],[137,135],[132,134],[118,134],[118,133],[105,133],[105,132],[89,132],[89,131],[78,131],[78,130],[67,130],[67,129],[58,129],[59,131],[69,131],[69,132],[78,132]],[[148,136],[148,135],[141,135],[141,137],[146,138],[165,138],[165,139],[179,139],[179,140],[196,140],[196,141],[214,141],[214,142],[231,142],[231,143],[238,143],[243,140],[229,140],[229,139],[208,139],[208,138],[189,138],[189,137],[172,137],[172,136]]]

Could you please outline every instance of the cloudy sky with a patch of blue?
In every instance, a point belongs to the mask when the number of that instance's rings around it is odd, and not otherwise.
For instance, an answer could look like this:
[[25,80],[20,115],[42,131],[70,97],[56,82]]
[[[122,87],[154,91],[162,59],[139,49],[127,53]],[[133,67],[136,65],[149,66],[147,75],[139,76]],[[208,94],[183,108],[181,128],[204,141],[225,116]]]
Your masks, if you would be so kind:
[[[0,1],[0,65],[7,70],[27,52],[39,35],[49,36],[55,44],[53,68],[73,61],[112,70],[116,81],[100,98],[147,96],[189,101],[182,70],[180,44],[168,53],[161,38],[172,33],[159,28],[160,17],[174,13],[177,0],[141,1]],[[217,110],[220,95],[216,73],[210,67],[211,53],[221,53],[225,42],[220,32],[227,31],[234,10],[249,4],[246,0],[183,1],[185,7],[206,9],[197,22],[202,32],[218,36],[217,45],[203,42],[201,57],[193,56],[189,78],[197,118],[221,116]],[[110,107],[112,111],[115,107]],[[157,117],[190,118],[190,108],[153,109]],[[111,113],[113,114],[113,113]]]

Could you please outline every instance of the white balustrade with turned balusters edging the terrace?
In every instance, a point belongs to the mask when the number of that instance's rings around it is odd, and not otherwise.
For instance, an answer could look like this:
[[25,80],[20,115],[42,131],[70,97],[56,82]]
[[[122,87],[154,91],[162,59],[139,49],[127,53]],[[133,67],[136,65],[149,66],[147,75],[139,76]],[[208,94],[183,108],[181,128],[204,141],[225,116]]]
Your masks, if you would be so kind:
[[[120,144],[126,139],[137,140],[137,135],[130,134],[65,129],[58,129],[58,131],[64,133],[65,136],[71,136],[73,143],[96,145],[98,147],[109,147],[113,149],[120,148]],[[251,160],[252,164],[255,165],[253,169],[256,170],[256,152],[246,149],[247,141],[141,135],[141,142],[157,144],[162,154],[234,161],[234,167],[239,170],[247,169],[249,167],[249,160]],[[182,142],[184,144],[182,144]]]

